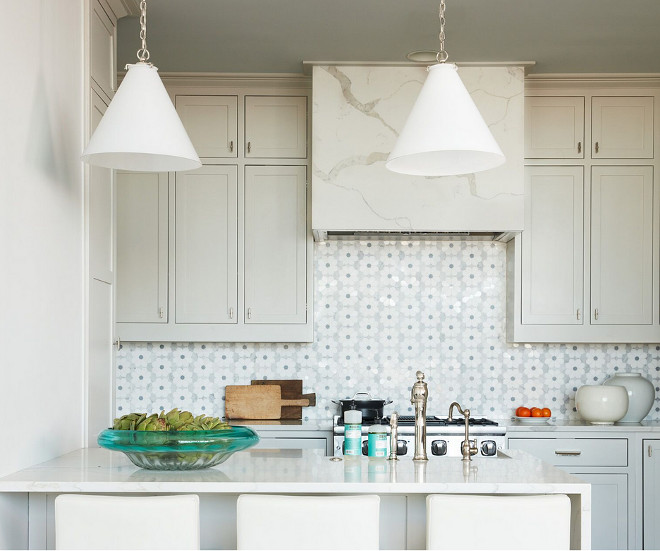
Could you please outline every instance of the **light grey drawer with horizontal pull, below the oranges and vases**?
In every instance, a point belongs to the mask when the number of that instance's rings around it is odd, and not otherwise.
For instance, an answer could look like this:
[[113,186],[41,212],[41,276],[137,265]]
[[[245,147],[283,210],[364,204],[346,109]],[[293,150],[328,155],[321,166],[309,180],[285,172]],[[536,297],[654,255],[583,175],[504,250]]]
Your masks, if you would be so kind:
[[509,438],[509,448],[523,450],[557,466],[626,467],[625,438]]

